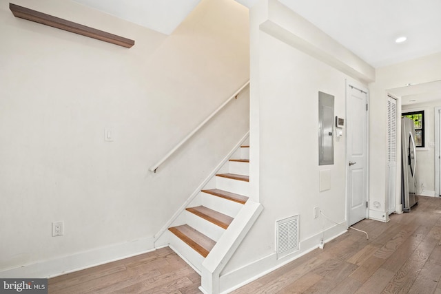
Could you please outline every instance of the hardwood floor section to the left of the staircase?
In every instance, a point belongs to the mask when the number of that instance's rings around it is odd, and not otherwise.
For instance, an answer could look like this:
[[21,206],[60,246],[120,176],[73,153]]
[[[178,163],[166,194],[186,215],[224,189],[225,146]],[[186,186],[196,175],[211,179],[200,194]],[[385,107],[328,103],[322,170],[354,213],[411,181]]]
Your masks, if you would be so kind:
[[201,293],[201,277],[169,247],[53,277],[48,293]]

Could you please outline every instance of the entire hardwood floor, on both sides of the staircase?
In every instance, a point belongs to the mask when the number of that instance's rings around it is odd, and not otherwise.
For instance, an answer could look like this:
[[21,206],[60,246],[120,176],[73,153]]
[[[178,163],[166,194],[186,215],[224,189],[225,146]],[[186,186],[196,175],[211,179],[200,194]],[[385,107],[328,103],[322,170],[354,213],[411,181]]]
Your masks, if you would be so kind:
[[[232,293],[441,294],[441,198],[420,197],[387,223],[348,233]],[[54,277],[49,293],[201,293],[201,278],[164,248]]]

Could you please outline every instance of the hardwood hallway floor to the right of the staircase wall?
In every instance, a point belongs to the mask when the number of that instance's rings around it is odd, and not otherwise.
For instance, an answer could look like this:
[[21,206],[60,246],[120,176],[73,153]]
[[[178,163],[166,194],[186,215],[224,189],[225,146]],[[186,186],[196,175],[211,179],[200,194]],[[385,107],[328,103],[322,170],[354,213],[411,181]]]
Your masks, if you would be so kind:
[[441,198],[420,197],[389,222],[348,233],[234,291],[241,293],[441,294]]

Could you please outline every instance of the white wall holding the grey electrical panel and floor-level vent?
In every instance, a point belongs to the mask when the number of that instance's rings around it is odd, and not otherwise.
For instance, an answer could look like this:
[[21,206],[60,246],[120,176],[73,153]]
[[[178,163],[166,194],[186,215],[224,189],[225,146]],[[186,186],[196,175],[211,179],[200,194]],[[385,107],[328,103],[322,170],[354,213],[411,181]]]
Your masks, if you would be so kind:
[[[319,166],[318,92],[334,95],[335,115],[345,117],[345,85],[347,80],[354,81],[353,77],[303,52],[304,48],[299,50],[263,32],[259,21],[265,21],[267,8],[267,1],[260,1],[250,12],[250,158],[259,158],[258,165],[250,160],[250,174],[260,178],[259,182],[250,178],[250,184],[252,191],[258,191],[264,209],[221,273],[221,290],[236,287],[317,248],[322,231],[324,240],[329,240],[347,229],[346,135],[344,132],[344,136],[335,138],[334,165]],[[289,32],[296,34],[295,28]],[[253,145],[256,143],[258,154]],[[329,170],[331,189],[320,192],[322,170]],[[320,207],[342,225],[314,219],[314,207]],[[300,251],[277,260],[276,220],[296,214],[300,215]]]

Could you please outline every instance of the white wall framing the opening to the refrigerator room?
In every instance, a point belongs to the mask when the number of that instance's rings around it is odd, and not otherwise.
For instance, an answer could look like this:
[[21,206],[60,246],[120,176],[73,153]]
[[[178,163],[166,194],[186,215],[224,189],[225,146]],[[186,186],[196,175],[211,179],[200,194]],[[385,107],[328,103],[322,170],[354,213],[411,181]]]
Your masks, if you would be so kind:
[[[370,120],[370,186],[369,207],[371,215],[379,220],[387,221],[387,93],[388,90],[404,87],[408,83],[418,85],[439,81],[441,79],[441,53],[431,54],[419,59],[380,67],[376,69],[376,81],[369,84],[371,94],[371,114],[375,119]],[[398,97],[398,105],[401,105]],[[400,175],[398,171],[398,175]],[[397,180],[397,193],[401,187]],[[399,195],[397,195],[397,198]],[[373,206],[378,202],[380,207]]]

